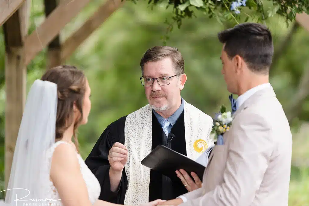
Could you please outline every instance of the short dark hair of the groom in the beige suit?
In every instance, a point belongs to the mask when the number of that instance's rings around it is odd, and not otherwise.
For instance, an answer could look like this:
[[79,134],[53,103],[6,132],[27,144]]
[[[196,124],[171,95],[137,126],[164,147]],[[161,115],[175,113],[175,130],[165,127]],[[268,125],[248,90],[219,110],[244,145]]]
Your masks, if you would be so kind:
[[232,59],[239,55],[250,70],[269,73],[273,60],[273,40],[269,29],[259,23],[242,23],[218,33],[224,51]]

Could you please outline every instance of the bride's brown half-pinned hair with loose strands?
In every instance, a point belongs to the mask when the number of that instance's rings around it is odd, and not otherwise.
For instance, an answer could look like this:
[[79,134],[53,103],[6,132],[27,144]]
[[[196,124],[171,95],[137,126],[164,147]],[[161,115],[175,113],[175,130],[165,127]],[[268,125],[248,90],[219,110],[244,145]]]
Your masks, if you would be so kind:
[[83,120],[83,98],[86,90],[86,77],[83,71],[75,66],[57,66],[48,69],[41,80],[57,84],[56,141],[62,139],[63,133],[73,124],[74,103],[79,110],[81,115],[74,122],[74,144],[79,152],[78,138],[75,131]]

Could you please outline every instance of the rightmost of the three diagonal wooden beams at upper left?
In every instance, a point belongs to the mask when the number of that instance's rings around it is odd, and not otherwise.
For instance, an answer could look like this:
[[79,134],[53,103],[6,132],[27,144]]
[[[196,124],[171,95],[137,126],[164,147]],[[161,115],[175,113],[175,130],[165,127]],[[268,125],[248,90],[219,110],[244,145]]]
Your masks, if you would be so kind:
[[92,15],[82,27],[72,34],[62,44],[61,63],[64,63],[70,57],[76,48],[91,35],[102,23],[108,19],[114,11],[124,4],[125,0],[108,0]]

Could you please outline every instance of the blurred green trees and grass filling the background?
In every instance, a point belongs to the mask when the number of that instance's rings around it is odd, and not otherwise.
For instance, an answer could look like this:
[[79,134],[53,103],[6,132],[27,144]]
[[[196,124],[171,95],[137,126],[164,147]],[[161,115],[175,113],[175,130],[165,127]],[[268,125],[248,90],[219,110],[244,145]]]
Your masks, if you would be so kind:
[[[93,0],[61,32],[61,41],[65,40],[89,18],[104,1]],[[182,96],[205,113],[213,116],[222,104],[229,106],[229,93],[221,76],[220,52],[222,45],[217,33],[231,27],[235,22],[219,23],[202,13],[196,13],[193,19],[184,19],[180,29],[169,33],[167,45],[177,47],[183,54],[185,73],[188,80]],[[172,8],[157,5],[151,9],[147,2],[137,4],[126,2],[108,20],[99,27],[67,60],[66,64],[83,69],[91,86],[92,109],[88,124],[79,128],[81,154],[86,158],[95,141],[108,124],[147,104],[140,83],[141,69],[139,61],[150,47],[162,45],[166,34],[167,18],[172,17]],[[29,33],[44,21],[42,0],[32,0]],[[275,52],[281,50],[281,44],[291,30],[279,16],[266,21],[273,32]],[[270,82],[284,109],[293,101],[303,71],[308,65],[307,47],[309,33],[298,28],[289,46],[283,49],[282,56],[271,68]],[[4,38],[0,32],[0,180],[4,179]],[[27,91],[35,79],[46,69],[46,50],[40,52],[28,65]],[[1,82],[2,81],[2,82]],[[298,123],[309,119],[309,99],[302,104],[301,115],[292,122],[293,132],[298,132]],[[265,105],[267,106],[267,105]],[[309,153],[308,129],[303,135],[294,136],[290,205],[308,205],[309,179],[307,161]],[[296,152],[297,151],[297,152]],[[306,164],[305,164],[306,163]],[[296,164],[296,163],[295,163]],[[3,188],[3,183],[2,183]],[[0,188],[0,189],[2,189]],[[0,194],[0,198],[1,198]]]

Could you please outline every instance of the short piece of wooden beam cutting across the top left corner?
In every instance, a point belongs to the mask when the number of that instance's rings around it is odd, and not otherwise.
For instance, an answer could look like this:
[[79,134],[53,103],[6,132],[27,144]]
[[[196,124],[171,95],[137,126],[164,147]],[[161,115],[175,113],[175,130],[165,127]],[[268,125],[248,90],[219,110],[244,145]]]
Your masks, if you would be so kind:
[[1,0],[0,26],[2,26],[2,24],[6,22],[6,20],[9,19],[25,1],[26,0]]

